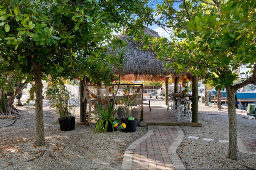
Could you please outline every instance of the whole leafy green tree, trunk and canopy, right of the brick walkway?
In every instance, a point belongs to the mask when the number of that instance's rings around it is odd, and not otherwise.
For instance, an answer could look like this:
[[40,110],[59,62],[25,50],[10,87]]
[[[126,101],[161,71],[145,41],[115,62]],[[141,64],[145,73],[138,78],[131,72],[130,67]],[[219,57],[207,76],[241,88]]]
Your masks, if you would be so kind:
[[[232,160],[238,160],[234,94],[256,84],[255,9],[254,0],[166,0],[156,10],[157,23],[172,33],[172,41],[153,40],[158,56],[177,72],[188,69],[202,76],[207,71],[206,79],[213,81],[216,90],[226,88]],[[249,68],[250,75],[234,84],[241,66]]]

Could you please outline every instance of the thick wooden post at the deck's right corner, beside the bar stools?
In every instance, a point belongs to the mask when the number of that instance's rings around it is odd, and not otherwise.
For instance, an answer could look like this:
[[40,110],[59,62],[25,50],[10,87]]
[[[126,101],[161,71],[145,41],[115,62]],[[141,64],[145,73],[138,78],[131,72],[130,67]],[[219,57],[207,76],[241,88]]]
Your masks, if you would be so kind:
[[192,122],[198,123],[198,76],[192,77]]

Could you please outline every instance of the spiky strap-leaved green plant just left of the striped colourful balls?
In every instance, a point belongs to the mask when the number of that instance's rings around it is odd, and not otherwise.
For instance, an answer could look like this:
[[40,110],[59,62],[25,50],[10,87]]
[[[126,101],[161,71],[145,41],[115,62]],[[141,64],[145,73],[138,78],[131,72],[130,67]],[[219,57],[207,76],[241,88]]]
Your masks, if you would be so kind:
[[[112,125],[112,130],[114,133],[114,124],[113,122],[116,121],[118,124],[120,124],[117,121],[117,117],[114,117],[114,113],[116,113],[116,109],[114,109],[114,102],[111,102],[110,104],[106,104],[106,109],[102,109],[102,107],[96,104],[96,108],[94,109],[97,116],[90,119],[90,121],[94,120],[94,119],[98,119],[94,128],[95,132],[99,132],[101,133],[102,131],[105,133],[107,128],[108,128],[108,123],[111,123]],[[89,122],[90,122],[89,121]]]

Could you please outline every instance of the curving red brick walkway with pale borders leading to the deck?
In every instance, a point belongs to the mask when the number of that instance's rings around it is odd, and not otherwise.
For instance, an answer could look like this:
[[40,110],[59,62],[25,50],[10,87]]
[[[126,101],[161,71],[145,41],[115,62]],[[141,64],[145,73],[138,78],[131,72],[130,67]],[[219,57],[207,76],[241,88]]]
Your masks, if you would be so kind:
[[178,126],[148,126],[148,133],[126,149],[121,169],[185,169],[176,154],[183,137]]

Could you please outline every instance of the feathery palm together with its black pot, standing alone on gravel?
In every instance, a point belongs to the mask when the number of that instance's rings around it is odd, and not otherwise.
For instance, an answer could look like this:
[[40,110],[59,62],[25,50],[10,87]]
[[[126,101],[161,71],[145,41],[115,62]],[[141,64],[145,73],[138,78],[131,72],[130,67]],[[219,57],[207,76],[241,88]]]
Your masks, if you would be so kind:
[[54,108],[59,114],[60,131],[72,131],[75,129],[73,108],[76,106],[74,100],[70,100],[70,92],[64,84],[53,83],[47,87],[46,96],[50,103],[50,108]]

